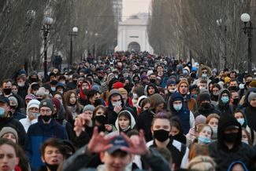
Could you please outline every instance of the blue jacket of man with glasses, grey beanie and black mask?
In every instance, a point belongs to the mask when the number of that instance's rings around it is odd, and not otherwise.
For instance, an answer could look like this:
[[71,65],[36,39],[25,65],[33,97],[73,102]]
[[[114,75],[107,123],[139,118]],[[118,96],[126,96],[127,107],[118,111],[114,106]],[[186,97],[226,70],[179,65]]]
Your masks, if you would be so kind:
[[54,119],[51,119],[49,124],[44,124],[42,119],[39,118],[39,122],[29,126],[25,140],[25,151],[32,171],[38,170],[40,166],[43,166],[39,149],[51,137],[65,140],[68,139],[68,133]]

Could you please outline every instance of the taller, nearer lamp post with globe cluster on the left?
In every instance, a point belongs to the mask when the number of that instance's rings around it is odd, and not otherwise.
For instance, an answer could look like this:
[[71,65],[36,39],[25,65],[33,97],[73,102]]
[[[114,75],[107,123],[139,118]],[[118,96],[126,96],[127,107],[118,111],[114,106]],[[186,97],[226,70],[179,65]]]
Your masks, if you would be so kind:
[[50,33],[50,26],[53,24],[54,20],[50,18],[49,16],[44,17],[43,19],[43,42],[44,42],[44,48],[43,48],[43,55],[44,55],[44,63],[43,63],[43,69],[44,69],[44,76],[47,75],[47,37]]

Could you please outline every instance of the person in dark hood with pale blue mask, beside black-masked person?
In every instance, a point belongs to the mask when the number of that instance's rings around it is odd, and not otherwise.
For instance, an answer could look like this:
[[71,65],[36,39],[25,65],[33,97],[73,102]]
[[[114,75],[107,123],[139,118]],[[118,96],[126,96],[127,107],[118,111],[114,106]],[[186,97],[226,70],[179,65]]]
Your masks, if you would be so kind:
[[218,104],[216,107],[218,111],[221,111],[221,116],[233,114],[233,107],[229,105],[230,96],[231,95],[228,89],[221,89]]

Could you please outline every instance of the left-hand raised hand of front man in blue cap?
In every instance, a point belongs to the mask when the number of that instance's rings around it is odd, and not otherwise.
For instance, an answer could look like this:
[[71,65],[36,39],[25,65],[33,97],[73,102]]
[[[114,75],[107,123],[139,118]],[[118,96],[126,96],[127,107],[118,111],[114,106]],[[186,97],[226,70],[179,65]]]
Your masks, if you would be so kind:
[[113,147],[113,144],[109,144],[111,140],[115,139],[116,136],[106,136],[104,133],[98,133],[98,127],[95,126],[93,135],[88,144],[88,151],[91,153],[100,153]]

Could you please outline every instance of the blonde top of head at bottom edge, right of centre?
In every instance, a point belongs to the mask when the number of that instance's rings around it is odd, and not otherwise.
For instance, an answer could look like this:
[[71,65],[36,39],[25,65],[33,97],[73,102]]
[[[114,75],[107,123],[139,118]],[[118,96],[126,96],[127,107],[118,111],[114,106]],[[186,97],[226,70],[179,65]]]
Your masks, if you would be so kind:
[[187,169],[196,171],[215,171],[216,163],[207,155],[199,155],[188,163]]

